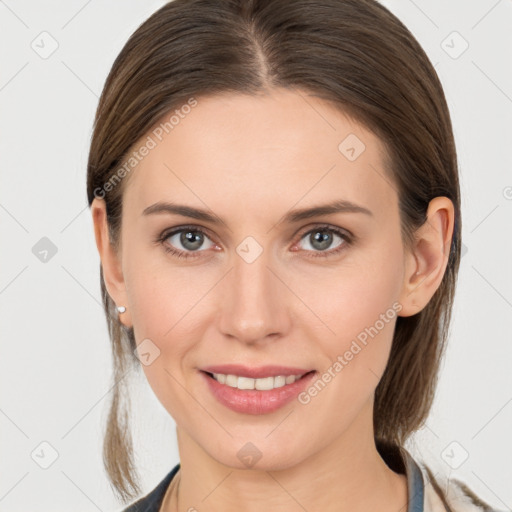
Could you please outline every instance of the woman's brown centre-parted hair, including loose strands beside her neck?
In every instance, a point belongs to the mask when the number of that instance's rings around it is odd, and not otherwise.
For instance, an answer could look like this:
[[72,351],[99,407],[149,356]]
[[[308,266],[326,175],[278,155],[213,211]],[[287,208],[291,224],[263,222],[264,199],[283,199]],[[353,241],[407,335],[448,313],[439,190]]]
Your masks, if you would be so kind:
[[[164,114],[217,93],[306,91],[373,131],[387,149],[399,197],[404,245],[426,220],[431,199],[453,202],[455,226],[443,280],[427,306],[398,317],[388,365],[376,389],[375,438],[403,445],[430,410],[448,336],[460,261],[457,157],[441,83],[409,30],[374,0],[175,0],[129,38],[106,80],[87,168],[89,205],[106,202],[118,248],[126,179],[108,192],[129,151]],[[340,141],[341,142],[341,141]],[[98,194],[101,191],[101,194]],[[114,358],[104,464],[127,500],[140,493],[128,424],[126,372],[139,366],[133,329],[124,328],[101,289]]]

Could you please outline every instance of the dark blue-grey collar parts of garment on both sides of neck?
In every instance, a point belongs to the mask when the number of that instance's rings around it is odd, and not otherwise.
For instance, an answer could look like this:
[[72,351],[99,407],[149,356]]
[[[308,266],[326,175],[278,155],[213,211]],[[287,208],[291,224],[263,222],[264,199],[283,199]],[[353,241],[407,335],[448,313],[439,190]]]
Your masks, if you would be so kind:
[[[405,469],[405,475],[407,477],[407,491],[409,493],[409,505],[407,507],[407,512],[423,512],[423,475],[418,464],[416,464],[409,452],[403,448],[400,452],[402,456],[399,459],[397,459],[396,451],[392,456],[395,464],[397,464],[399,468]],[[138,501],[128,506],[128,508],[123,509],[122,512],[158,512],[162,506],[165,491],[167,491],[171,480],[179,469],[180,464],[176,464],[176,466],[174,466],[174,468],[149,494],[140,498]],[[404,471],[399,472],[404,473]]]

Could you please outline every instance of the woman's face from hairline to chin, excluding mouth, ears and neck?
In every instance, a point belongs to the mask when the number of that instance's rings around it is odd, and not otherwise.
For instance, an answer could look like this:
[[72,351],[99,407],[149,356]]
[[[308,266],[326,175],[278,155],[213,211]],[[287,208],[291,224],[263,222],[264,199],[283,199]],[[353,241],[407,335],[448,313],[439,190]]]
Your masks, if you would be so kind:
[[[123,198],[116,301],[150,386],[181,440],[228,466],[251,449],[274,469],[341,439],[359,449],[408,272],[383,146],[306,93],[198,98],[180,113],[141,139],[155,147]],[[294,215],[342,201],[361,210]],[[170,203],[221,221],[155,206]],[[230,363],[317,373],[291,401],[234,410],[201,371]]]

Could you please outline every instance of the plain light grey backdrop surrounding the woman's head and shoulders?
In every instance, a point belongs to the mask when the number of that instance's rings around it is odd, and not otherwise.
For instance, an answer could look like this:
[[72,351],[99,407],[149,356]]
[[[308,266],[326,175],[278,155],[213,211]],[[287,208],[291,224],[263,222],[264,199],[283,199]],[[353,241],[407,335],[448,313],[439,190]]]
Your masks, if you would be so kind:
[[[436,402],[409,449],[510,510],[512,1],[383,3],[444,85],[467,251]],[[85,169],[110,66],[163,4],[0,0],[2,512],[121,508],[101,461],[111,356]],[[46,262],[33,253],[43,237],[57,249]],[[175,428],[142,374],[133,391],[135,450],[149,491],[178,462]]]

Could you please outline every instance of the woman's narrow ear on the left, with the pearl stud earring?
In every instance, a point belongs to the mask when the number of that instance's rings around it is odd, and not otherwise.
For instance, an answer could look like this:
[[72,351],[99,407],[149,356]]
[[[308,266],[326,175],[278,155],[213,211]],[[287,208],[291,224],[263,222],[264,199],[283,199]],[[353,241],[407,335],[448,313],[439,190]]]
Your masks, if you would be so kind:
[[131,327],[130,308],[127,306],[128,301],[121,258],[110,240],[105,201],[97,197],[94,198],[91,204],[91,213],[96,247],[100,255],[105,287],[116,306],[126,307],[126,311],[119,314],[119,321],[126,327]]

